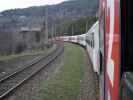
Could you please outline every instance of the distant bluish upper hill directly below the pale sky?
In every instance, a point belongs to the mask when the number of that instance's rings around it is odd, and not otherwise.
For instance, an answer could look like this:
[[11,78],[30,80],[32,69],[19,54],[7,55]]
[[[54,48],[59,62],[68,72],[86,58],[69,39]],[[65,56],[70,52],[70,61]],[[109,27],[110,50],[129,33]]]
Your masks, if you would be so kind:
[[2,17],[12,17],[23,25],[43,24],[45,8],[48,8],[48,21],[59,24],[62,21],[77,20],[81,17],[94,16],[98,11],[98,0],[69,0],[57,5],[36,6],[24,9],[12,9],[1,12]]

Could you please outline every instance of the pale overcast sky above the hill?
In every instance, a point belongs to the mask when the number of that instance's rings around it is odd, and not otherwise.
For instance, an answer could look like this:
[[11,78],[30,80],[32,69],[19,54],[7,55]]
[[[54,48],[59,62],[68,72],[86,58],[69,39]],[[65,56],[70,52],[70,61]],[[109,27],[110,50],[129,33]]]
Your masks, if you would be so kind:
[[47,4],[58,4],[66,0],[1,0],[0,11],[12,8],[26,8],[30,6],[40,6]]

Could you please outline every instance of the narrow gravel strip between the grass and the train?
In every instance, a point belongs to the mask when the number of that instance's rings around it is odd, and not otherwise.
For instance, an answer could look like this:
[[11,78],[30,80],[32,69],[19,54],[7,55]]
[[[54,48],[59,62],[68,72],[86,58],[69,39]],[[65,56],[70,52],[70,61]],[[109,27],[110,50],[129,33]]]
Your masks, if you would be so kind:
[[86,54],[86,67],[84,74],[84,79],[81,81],[78,100],[99,100],[98,77],[93,71],[92,63],[88,54]]

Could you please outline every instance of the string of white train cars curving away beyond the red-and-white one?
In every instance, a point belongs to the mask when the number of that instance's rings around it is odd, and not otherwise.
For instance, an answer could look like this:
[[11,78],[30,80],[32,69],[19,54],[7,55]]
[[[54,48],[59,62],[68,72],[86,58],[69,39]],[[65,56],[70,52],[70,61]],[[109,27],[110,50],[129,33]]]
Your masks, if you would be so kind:
[[93,70],[94,72],[99,73],[100,58],[99,58],[99,22],[98,21],[85,34],[75,35],[75,36],[61,36],[59,40],[64,42],[77,43],[86,47],[93,64]]

